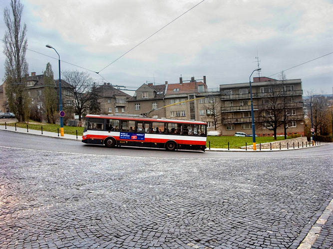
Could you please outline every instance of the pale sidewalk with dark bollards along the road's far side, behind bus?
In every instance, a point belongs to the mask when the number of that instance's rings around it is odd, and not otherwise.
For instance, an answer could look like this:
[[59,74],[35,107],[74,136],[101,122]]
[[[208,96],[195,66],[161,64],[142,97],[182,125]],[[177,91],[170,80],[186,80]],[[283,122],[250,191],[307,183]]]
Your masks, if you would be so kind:
[[[5,131],[11,131],[11,132],[19,132],[19,133],[25,133],[25,134],[32,134],[32,135],[40,135],[40,136],[47,136],[47,137],[54,137],[54,138],[61,138],[61,139],[70,139],[70,140],[77,140],[77,141],[81,141],[82,137],[80,135],[77,136],[76,135],[69,135],[69,134],[64,134],[64,136],[58,136],[58,133],[54,133],[54,132],[49,132],[49,131],[43,131],[43,134],[41,134],[41,130],[36,130],[36,129],[28,129],[28,132],[26,131],[26,128],[19,128],[17,127],[15,130],[15,127],[13,126],[7,126],[7,128],[5,129],[4,125],[0,125],[0,130],[5,130]],[[323,143],[321,145],[314,145],[314,146],[322,146]],[[304,147],[302,148],[300,146],[300,148],[298,148],[298,146],[295,146],[295,149],[305,149],[305,148],[311,148],[313,146],[309,146],[306,147],[304,145]],[[220,151],[220,152],[267,152],[267,151],[286,151],[286,150],[295,150],[293,148],[293,146],[289,147],[289,149],[287,148],[272,148],[271,149],[261,149],[259,148],[259,145],[257,145],[257,150],[252,150],[252,149],[227,149],[227,148],[207,148],[206,151]]]

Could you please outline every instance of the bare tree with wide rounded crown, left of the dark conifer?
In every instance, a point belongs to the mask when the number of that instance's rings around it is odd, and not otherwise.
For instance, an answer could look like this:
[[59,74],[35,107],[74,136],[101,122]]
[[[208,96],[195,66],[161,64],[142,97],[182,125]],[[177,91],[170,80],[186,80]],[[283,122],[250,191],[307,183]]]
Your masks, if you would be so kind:
[[85,72],[65,71],[63,73],[64,80],[68,83],[67,100],[71,103],[65,103],[66,110],[72,111],[78,115],[79,124],[81,124],[81,116],[89,110],[89,101],[91,93],[89,92],[92,79]]

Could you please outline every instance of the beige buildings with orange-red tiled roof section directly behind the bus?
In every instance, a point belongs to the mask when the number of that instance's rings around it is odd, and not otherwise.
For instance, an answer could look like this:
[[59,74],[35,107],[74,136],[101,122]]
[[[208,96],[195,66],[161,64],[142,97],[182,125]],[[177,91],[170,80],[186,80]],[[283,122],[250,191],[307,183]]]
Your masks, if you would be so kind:
[[[136,90],[135,96],[127,100],[128,113],[140,115],[157,109],[151,112],[149,116],[153,118],[205,121],[208,122],[209,129],[214,129],[210,114],[212,106],[216,108],[216,113],[220,112],[219,92],[208,93],[206,76],[202,80],[195,80],[192,77],[191,80],[183,81],[183,78],[180,77],[179,83],[175,84],[169,84],[167,81],[164,85],[143,84]],[[173,105],[175,103],[180,104]],[[161,107],[165,108],[159,109]]]

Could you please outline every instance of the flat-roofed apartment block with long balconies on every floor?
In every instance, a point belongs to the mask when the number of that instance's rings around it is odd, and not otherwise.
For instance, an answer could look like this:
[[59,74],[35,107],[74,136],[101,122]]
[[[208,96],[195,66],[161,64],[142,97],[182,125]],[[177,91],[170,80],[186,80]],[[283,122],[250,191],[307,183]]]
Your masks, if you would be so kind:
[[[236,131],[252,133],[252,116],[249,83],[220,85],[222,134],[234,135]],[[303,90],[301,79],[275,80],[254,77],[252,97],[256,134],[272,136],[274,119],[277,134],[284,134],[284,122],[288,134],[304,135]]]

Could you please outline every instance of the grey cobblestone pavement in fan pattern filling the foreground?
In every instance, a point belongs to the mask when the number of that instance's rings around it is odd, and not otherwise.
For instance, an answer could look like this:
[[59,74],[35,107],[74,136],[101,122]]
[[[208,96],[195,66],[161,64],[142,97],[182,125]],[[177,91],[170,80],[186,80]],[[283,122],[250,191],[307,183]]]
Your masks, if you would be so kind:
[[[0,147],[0,161],[4,249],[293,249],[333,193],[332,156],[165,159]],[[322,245],[332,245],[331,228],[332,217]]]

